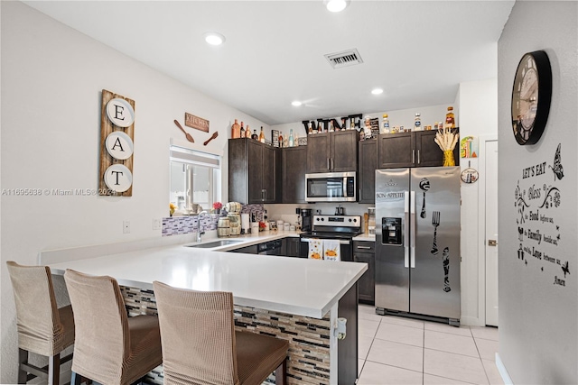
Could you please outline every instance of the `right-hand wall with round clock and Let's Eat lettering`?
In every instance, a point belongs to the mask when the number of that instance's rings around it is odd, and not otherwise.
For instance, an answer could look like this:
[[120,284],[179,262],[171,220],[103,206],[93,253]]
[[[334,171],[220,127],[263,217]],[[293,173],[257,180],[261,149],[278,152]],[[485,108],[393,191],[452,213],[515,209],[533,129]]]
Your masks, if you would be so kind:
[[[578,382],[578,248],[576,190],[578,178],[578,3],[518,1],[498,43],[499,105],[499,357],[517,384],[575,384]],[[545,132],[534,145],[520,146],[512,133],[511,92],[517,64],[526,52],[545,50],[552,65],[552,103]],[[551,169],[561,145],[564,178]],[[547,165],[545,173],[536,165]],[[524,178],[523,170],[534,167]],[[520,188],[517,192],[517,187]],[[530,188],[536,187],[532,197]],[[546,190],[544,190],[544,187]],[[549,188],[558,188],[559,201],[541,206]],[[517,197],[525,198],[524,216]],[[556,202],[559,205],[556,205]],[[522,202],[519,202],[522,206]],[[552,218],[535,221],[529,212]],[[522,218],[524,220],[522,221]],[[526,235],[520,241],[518,227]],[[538,243],[528,232],[554,236],[557,245]],[[520,243],[525,252],[518,258]],[[542,258],[537,258],[537,252]],[[545,254],[569,261],[545,261]],[[565,286],[555,284],[555,278]]]

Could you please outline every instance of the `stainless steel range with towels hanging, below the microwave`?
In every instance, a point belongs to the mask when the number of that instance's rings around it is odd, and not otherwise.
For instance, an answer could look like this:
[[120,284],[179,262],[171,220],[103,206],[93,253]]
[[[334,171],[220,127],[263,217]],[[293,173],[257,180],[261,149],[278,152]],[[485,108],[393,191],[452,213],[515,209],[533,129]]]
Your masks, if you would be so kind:
[[332,240],[340,244],[340,260],[353,261],[351,241],[361,233],[359,215],[313,215],[312,230],[301,234],[301,255],[307,256],[310,240]]

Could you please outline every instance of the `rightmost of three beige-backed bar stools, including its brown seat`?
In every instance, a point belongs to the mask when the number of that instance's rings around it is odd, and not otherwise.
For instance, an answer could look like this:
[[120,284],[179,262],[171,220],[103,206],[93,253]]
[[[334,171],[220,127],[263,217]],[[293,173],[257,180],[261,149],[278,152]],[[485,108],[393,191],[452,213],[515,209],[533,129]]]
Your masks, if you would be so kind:
[[289,343],[235,331],[232,293],[153,285],[165,384],[260,385],[273,371],[286,383]]

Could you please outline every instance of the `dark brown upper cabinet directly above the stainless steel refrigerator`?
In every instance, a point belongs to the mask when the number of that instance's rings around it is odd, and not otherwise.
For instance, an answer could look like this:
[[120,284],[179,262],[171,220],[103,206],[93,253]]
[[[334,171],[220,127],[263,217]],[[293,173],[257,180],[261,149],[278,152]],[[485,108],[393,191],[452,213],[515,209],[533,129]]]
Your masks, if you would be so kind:
[[[382,133],[378,136],[378,169],[443,166],[443,151],[436,142],[436,131]],[[453,150],[460,163],[459,145]]]

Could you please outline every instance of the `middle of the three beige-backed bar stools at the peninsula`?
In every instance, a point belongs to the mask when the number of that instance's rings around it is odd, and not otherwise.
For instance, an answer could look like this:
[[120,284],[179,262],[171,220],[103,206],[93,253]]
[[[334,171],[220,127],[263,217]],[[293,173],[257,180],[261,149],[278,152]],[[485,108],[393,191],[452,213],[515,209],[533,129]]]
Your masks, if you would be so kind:
[[158,317],[128,317],[117,280],[74,270],[64,280],[77,325],[71,384],[132,384],[163,362]]

